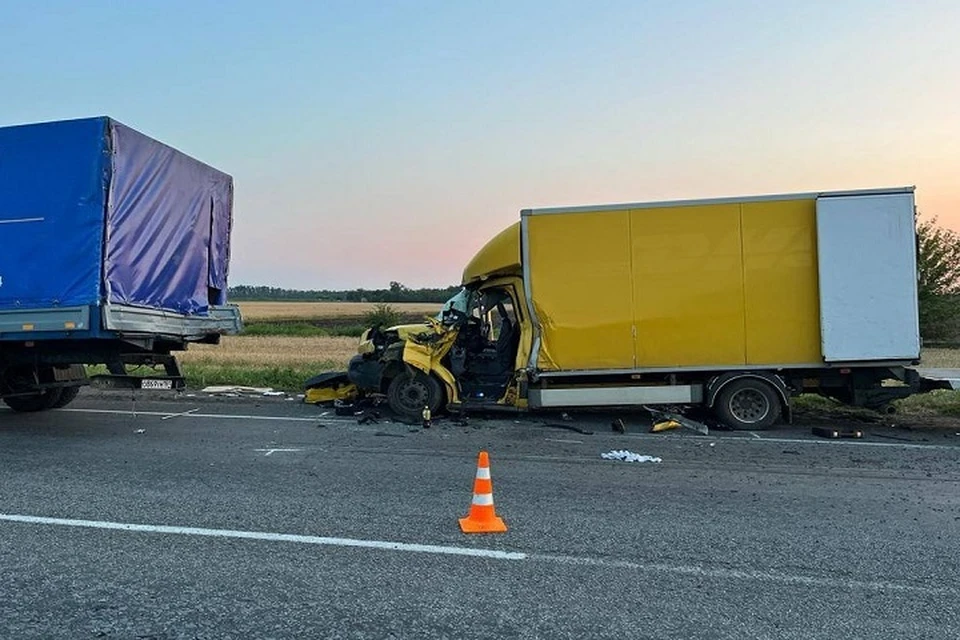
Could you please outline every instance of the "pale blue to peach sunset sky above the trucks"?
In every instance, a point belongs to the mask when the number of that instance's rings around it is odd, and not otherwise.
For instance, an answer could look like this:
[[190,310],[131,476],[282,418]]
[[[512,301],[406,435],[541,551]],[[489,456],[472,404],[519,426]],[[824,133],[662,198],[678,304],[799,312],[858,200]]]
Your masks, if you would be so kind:
[[231,174],[231,284],[412,287],[526,207],[916,185],[960,230],[960,2],[7,3],[0,126]]

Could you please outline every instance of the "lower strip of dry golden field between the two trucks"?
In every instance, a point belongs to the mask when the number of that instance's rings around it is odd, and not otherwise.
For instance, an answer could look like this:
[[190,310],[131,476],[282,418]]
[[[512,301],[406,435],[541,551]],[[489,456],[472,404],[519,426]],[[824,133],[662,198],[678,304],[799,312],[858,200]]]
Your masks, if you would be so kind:
[[356,352],[357,339],[342,336],[224,336],[219,345],[191,345],[178,359],[184,365],[343,368]]

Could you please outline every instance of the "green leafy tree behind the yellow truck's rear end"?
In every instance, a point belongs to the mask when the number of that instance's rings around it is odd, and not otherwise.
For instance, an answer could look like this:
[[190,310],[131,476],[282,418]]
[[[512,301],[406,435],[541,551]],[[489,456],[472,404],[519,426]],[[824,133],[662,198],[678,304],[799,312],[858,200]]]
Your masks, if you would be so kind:
[[927,342],[960,342],[960,234],[917,224],[920,335]]

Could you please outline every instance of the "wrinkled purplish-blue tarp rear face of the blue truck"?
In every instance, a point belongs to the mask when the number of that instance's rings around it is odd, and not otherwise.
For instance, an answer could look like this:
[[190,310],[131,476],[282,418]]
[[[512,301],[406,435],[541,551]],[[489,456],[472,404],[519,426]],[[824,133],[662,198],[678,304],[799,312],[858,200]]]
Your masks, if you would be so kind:
[[118,122],[111,131],[108,300],[206,314],[226,290],[232,179]]

